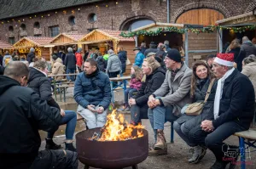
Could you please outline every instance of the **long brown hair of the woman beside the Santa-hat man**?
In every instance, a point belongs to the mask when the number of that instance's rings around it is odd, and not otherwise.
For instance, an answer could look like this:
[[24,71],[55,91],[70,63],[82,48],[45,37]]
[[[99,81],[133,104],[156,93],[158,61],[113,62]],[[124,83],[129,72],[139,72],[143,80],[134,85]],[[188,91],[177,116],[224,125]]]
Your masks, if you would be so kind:
[[196,68],[199,65],[203,65],[207,68],[207,77],[209,78],[210,81],[212,81],[212,79],[214,78],[212,70],[210,69],[210,67],[207,65],[207,63],[205,61],[202,61],[202,60],[195,61],[195,64],[193,65],[193,68],[192,68],[193,73],[192,73],[191,85],[190,85],[190,97],[191,98],[194,98],[194,95],[195,95],[196,79],[199,78],[198,76],[196,76]]

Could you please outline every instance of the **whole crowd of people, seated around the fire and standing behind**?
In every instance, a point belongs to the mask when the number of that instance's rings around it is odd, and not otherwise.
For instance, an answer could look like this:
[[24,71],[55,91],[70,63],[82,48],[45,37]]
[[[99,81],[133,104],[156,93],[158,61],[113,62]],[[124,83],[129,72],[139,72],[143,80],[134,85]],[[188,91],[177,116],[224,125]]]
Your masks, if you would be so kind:
[[[141,47],[134,48],[131,82],[122,110],[131,111],[132,125],[138,125],[142,119],[150,121],[155,142],[148,155],[167,154],[164,124],[172,121],[180,138],[194,149],[189,163],[200,162],[209,149],[216,158],[211,169],[234,168],[238,155],[223,161],[224,152],[239,148],[225,144],[224,140],[247,130],[253,121],[256,48],[252,42],[247,37],[242,38],[241,44],[235,39],[224,54],[195,61],[192,69],[183,62],[177,49],[169,47],[168,41],[158,48],[154,42],[149,48],[145,45],[143,42]],[[52,74],[60,75],[65,70],[80,72],[68,77],[75,81],[73,98],[78,104],[77,111],[89,129],[103,127],[112,98],[109,77],[124,73],[127,53],[122,47],[118,54],[112,49],[104,55],[96,49],[86,56],[82,48],[67,51],[68,54],[52,54]],[[6,59],[12,59],[8,53],[3,58],[5,69],[0,76],[1,168],[78,168],[73,146],[77,115],[73,110],[62,110],[52,98],[47,62],[32,54],[27,56],[31,67]],[[198,109],[191,114],[189,110],[195,107]],[[52,139],[62,124],[67,124],[65,149]],[[42,151],[38,151],[38,130],[48,132]]]

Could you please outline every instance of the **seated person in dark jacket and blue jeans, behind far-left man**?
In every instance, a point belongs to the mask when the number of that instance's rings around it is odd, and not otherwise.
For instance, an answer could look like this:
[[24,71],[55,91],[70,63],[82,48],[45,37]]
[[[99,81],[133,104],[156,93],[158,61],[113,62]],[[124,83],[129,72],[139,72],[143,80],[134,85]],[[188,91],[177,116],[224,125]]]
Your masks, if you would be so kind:
[[[73,134],[77,124],[77,114],[72,110],[62,110],[52,98],[51,85],[47,77],[47,63],[45,61],[38,60],[34,63],[34,66],[29,70],[28,87],[31,87],[41,99],[47,101],[47,103],[61,110],[61,125],[67,124],[66,127],[66,149],[75,151],[73,147]],[[47,138],[45,138],[45,149],[61,149],[61,145],[57,145],[53,142],[52,138],[55,132],[48,132]]]

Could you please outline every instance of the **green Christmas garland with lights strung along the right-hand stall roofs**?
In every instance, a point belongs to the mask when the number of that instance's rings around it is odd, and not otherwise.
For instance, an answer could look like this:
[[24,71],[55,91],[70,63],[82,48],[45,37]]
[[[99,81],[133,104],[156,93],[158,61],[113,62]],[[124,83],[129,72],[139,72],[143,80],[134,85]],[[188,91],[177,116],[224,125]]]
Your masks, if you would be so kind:
[[241,33],[241,32],[245,32],[245,31],[253,31],[256,30],[256,25],[244,25],[241,27],[226,27],[223,25],[204,25],[203,28],[201,29],[195,29],[195,28],[177,28],[174,26],[171,27],[165,27],[165,28],[157,28],[157,30],[155,31],[145,31],[145,30],[141,30],[141,31],[128,31],[128,32],[124,32],[122,31],[120,33],[121,37],[135,37],[135,36],[159,36],[161,33],[165,33],[166,31],[168,32],[175,32],[175,33],[179,33],[179,34],[183,34],[185,31],[190,31],[190,32],[194,32],[196,34],[199,33],[211,33],[213,31],[216,30],[230,30],[231,32],[234,33]]

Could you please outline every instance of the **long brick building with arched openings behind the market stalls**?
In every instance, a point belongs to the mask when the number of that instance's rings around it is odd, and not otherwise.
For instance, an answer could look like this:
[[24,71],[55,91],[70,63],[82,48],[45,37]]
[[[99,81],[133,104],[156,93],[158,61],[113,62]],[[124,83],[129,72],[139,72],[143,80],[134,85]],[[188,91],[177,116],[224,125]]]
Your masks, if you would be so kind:
[[[219,18],[212,19],[211,11],[223,19],[256,7],[254,0],[3,0],[0,3],[0,39],[10,43],[21,37],[55,37],[62,32],[86,34],[95,28],[131,30],[168,20],[212,24]],[[199,13],[189,18],[183,15],[201,9],[210,11],[206,20],[200,20]]]

